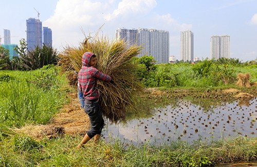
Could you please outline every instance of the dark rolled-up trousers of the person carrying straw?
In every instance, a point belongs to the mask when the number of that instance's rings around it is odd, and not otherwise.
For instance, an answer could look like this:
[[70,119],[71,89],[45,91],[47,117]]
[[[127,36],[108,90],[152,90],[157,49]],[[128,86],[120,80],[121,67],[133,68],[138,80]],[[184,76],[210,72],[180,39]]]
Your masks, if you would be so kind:
[[88,115],[91,124],[91,128],[87,131],[87,135],[90,138],[93,138],[96,134],[100,135],[104,126],[104,120],[99,103],[85,103],[84,111]]

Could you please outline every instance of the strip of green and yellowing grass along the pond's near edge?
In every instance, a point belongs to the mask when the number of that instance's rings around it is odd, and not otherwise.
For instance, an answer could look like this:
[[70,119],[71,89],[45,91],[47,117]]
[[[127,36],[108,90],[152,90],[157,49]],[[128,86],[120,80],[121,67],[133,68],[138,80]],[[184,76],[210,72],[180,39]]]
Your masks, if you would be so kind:
[[0,143],[1,166],[211,166],[217,163],[257,159],[257,138],[238,137],[193,144],[171,141],[162,145],[126,145],[89,141],[76,149],[81,136],[36,141],[15,134]]

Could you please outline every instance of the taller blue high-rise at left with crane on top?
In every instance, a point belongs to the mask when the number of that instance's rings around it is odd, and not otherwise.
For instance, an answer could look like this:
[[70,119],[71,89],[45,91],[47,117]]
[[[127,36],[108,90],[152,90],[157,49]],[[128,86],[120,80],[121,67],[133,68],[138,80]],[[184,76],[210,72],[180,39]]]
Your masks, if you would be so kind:
[[29,18],[26,20],[28,50],[36,46],[42,47],[42,22],[39,19]]

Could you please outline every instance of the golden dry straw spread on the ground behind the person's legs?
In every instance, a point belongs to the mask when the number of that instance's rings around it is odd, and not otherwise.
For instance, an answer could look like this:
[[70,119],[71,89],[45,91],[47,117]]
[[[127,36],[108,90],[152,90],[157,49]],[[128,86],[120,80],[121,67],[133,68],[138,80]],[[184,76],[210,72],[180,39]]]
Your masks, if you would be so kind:
[[52,118],[49,124],[28,125],[14,131],[25,133],[34,139],[52,138],[62,134],[71,136],[84,135],[90,129],[89,118],[80,107],[78,94],[73,92],[69,96],[70,102],[60,110],[60,113]]

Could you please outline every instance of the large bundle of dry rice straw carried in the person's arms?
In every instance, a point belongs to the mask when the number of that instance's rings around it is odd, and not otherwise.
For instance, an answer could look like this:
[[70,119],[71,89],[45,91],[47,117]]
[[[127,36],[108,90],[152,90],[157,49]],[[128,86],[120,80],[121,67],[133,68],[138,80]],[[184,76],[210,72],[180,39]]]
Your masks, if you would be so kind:
[[[86,37],[78,48],[66,47],[59,54],[59,65],[63,72],[79,71],[82,66],[84,52],[97,55],[97,69],[110,75],[114,85],[98,80],[100,105],[103,115],[111,122],[125,120],[128,110],[137,111],[136,98],[143,91],[132,63],[132,58],[140,53],[140,46],[127,47],[123,40],[109,42],[107,37]],[[71,78],[72,79],[72,78]]]

